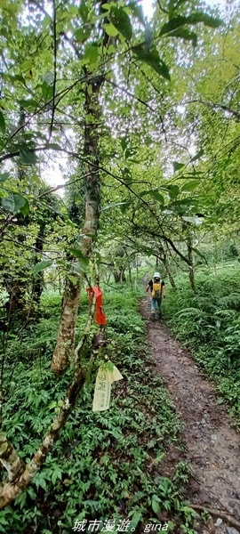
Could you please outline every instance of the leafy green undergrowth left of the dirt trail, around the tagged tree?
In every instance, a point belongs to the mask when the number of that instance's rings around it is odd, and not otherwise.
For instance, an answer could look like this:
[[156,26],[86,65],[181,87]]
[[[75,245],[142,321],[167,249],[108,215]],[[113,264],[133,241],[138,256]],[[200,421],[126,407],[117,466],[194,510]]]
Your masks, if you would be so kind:
[[[124,376],[113,386],[110,409],[92,413],[95,368],[44,466],[12,506],[0,511],[1,532],[68,534],[76,520],[100,522],[102,532],[117,531],[105,530],[104,522],[124,521],[124,531],[143,532],[147,524],[160,524],[163,514],[169,532],[193,532],[196,513],[183,498],[189,467],[182,461],[172,478],[164,473],[168,447],[181,447],[180,421],[154,373],[138,296],[122,287],[104,298],[108,357]],[[87,311],[84,296],[77,337]],[[25,461],[36,452],[70,381],[70,370],[60,378],[50,372],[59,318],[60,297],[44,295],[42,319],[12,331],[8,344],[4,432]]]

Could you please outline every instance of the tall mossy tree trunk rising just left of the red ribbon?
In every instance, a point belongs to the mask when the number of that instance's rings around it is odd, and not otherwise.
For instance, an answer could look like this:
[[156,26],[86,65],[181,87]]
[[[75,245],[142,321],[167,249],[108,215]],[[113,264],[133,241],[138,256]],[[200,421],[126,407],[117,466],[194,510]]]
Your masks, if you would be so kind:
[[[100,175],[99,175],[99,133],[100,87],[103,77],[92,78],[85,85],[85,127],[84,127],[84,158],[88,159],[85,166],[85,218],[82,247],[79,248],[84,257],[92,254],[93,242],[96,239],[100,219]],[[94,122],[87,117],[94,117]],[[74,276],[77,282],[68,279],[63,297],[60,328],[57,344],[52,357],[52,371],[60,373],[69,360],[73,358],[76,338],[76,317],[83,277]]]

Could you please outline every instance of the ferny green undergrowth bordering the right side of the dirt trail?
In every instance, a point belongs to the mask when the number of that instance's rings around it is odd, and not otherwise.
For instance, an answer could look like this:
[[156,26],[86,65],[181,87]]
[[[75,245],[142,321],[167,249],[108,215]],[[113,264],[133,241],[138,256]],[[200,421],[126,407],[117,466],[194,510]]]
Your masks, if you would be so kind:
[[187,275],[168,290],[165,317],[175,336],[217,384],[219,402],[240,425],[240,267],[198,271],[196,293]]

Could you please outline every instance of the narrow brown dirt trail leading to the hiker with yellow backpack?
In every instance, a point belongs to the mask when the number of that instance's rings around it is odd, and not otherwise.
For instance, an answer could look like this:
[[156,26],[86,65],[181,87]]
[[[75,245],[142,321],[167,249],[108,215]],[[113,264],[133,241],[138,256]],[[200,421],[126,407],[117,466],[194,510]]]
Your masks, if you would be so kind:
[[[141,300],[140,312],[148,320],[149,297]],[[185,453],[168,450],[168,464],[189,460],[194,470],[189,501],[224,511],[240,522],[240,435],[231,428],[227,411],[217,404],[213,384],[201,374],[190,353],[170,335],[163,321],[148,320],[148,340],[156,373],[167,385],[186,443]],[[225,522],[214,526],[216,521],[220,519],[216,517],[201,534],[240,532],[239,527],[236,530]]]

